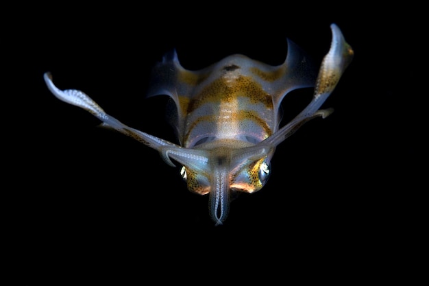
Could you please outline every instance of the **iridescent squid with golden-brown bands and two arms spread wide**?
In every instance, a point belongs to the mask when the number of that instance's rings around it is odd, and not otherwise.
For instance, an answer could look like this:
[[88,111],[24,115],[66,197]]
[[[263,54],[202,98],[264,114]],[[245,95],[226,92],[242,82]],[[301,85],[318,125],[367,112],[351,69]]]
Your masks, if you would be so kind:
[[[290,40],[283,64],[270,66],[243,55],[232,55],[199,71],[184,69],[175,51],[154,67],[149,96],[169,95],[173,126],[180,145],[135,130],[106,114],[88,95],[61,91],[50,73],[49,90],[64,102],[84,108],[103,126],[132,136],[183,165],[188,189],[209,194],[210,215],[218,225],[225,221],[234,192],[253,193],[267,182],[275,147],[304,123],[327,117],[332,109],[319,110],[353,58],[340,29],[332,24],[332,43],[319,73]],[[314,87],[312,100],[282,128],[280,103],[296,88]]]

